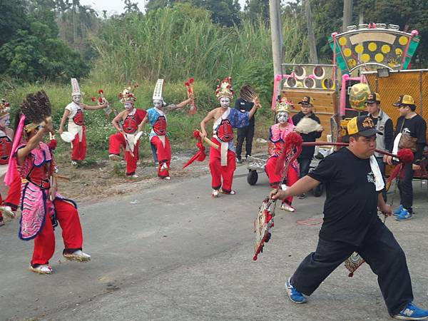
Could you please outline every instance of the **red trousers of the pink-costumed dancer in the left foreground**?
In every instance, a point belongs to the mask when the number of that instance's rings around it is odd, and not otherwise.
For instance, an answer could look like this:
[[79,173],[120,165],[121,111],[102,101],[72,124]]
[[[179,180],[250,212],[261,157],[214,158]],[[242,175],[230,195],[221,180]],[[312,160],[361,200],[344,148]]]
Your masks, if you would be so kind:
[[[56,219],[62,229],[64,248],[81,250],[83,233],[77,209],[65,200],[54,200]],[[55,252],[55,235],[51,218],[46,217],[43,230],[34,238],[34,252],[31,265],[48,264]]]

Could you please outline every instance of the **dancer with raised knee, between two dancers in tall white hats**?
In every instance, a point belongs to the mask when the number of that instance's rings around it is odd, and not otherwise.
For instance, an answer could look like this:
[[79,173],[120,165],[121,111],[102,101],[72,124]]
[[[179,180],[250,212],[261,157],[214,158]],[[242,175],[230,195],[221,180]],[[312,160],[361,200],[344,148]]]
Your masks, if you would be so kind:
[[112,161],[120,161],[121,148],[123,148],[123,155],[126,161],[126,175],[131,178],[138,178],[136,169],[139,159],[139,138],[143,131],[143,120],[146,118],[147,112],[134,106],[137,98],[131,89],[131,87],[127,87],[119,93],[119,98],[121,98],[121,103],[123,103],[125,110],[118,113],[111,122],[118,133],[110,136],[108,157]]

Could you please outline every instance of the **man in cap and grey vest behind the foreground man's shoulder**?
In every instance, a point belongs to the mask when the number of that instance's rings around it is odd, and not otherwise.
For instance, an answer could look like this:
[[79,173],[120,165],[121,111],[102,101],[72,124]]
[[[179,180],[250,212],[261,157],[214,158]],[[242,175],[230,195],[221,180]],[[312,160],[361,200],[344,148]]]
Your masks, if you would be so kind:
[[[376,126],[376,129],[381,132],[383,135],[377,135],[376,146],[377,149],[382,151],[389,151],[392,145],[392,137],[394,136],[394,127],[392,125],[392,119],[389,118],[387,113],[380,109],[380,96],[379,93],[370,93],[365,102],[367,106],[367,113]],[[382,178],[385,181],[385,163],[384,156],[380,153],[374,152],[374,157],[376,157],[377,163],[379,163],[380,173],[382,173]],[[386,159],[385,159],[386,160]],[[386,188],[382,191],[382,196],[384,201],[387,201],[387,190]]]

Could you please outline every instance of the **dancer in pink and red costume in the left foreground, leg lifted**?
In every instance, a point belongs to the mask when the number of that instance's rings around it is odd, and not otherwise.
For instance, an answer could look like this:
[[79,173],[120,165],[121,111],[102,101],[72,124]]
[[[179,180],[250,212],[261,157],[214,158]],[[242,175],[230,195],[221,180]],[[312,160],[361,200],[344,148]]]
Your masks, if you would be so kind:
[[57,193],[54,156],[42,141],[46,133],[52,132],[49,98],[44,91],[29,94],[20,109],[5,181],[9,184],[14,180],[17,167],[22,188],[19,238],[34,239],[29,270],[51,274],[49,260],[55,251],[57,223],[62,229],[64,258],[83,262],[91,256],[82,251],[83,235],[76,203]]

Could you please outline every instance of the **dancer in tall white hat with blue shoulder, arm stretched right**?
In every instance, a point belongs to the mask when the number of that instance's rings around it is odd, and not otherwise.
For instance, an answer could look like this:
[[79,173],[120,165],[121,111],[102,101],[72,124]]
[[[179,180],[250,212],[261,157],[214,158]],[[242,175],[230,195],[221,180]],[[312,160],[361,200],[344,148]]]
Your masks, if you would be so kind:
[[163,79],[158,79],[156,82],[155,90],[153,91],[153,108],[147,110],[147,119],[152,126],[149,136],[152,151],[156,151],[155,160],[158,161],[158,177],[165,180],[170,180],[169,167],[171,161],[171,148],[168,137],[166,137],[166,114],[170,111],[183,108],[193,101],[193,96],[190,96],[185,101],[178,103],[178,105],[166,105],[162,97]]

